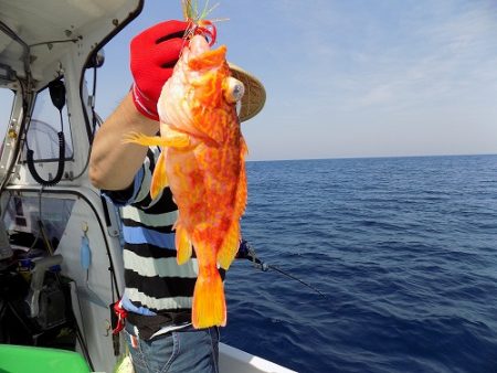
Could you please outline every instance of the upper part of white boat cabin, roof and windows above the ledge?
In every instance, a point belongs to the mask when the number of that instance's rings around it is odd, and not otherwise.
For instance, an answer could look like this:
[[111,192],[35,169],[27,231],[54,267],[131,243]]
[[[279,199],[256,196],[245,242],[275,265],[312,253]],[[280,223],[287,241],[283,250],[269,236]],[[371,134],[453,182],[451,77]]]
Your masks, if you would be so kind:
[[103,63],[98,52],[142,6],[144,0],[0,0],[0,114],[12,106],[9,119],[0,118],[0,190],[14,171],[24,185],[87,182],[81,175],[98,115],[85,72]]

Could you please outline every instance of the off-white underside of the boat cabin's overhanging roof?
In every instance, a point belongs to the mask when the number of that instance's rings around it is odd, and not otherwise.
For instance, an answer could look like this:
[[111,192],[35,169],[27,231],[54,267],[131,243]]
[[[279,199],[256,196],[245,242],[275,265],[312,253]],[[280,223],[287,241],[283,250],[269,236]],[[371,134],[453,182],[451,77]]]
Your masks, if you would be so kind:
[[0,0],[0,83],[27,70],[46,83],[66,53],[85,63],[141,8],[140,0]]

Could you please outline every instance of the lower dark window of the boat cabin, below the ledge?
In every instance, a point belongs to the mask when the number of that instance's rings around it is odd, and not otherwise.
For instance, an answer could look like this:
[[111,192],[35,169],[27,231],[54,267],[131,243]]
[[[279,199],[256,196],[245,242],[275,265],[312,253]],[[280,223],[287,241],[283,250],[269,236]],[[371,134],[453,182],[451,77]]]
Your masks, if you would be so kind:
[[[46,248],[46,241],[55,249],[61,241],[74,200],[11,195],[3,215],[12,248],[29,251]],[[42,224],[40,224],[40,222]]]

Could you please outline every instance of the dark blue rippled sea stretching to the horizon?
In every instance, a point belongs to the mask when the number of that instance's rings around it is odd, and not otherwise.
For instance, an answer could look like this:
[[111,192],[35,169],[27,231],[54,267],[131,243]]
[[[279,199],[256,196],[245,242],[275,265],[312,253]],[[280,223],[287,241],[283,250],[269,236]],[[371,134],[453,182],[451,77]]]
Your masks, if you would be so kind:
[[298,372],[497,372],[497,156],[248,162],[222,341]]

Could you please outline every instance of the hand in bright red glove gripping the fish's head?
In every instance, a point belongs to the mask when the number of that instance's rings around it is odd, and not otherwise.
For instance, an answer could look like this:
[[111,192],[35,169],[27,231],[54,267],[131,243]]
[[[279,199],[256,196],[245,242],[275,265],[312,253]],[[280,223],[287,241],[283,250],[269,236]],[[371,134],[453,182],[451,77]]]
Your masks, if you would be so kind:
[[133,102],[144,116],[159,120],[157,102],[183,47],[188,22],[166,21],[135,36],[130,44]]

